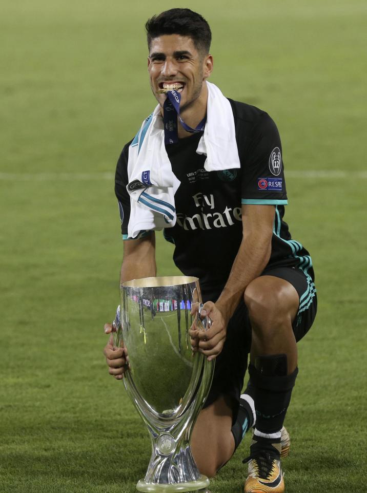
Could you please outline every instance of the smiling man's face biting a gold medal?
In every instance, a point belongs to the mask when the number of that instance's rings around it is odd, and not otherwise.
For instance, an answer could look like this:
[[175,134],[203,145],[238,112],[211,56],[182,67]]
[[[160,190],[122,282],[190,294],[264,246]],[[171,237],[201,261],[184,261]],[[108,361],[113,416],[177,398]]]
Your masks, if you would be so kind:
[[190,107],[200,96],[203,81],[212,69],[212,56],[198,52],[191,37],[165,34],[151,42],[148,56],[150,86],[161,106],[166,94],[157,91],[175,89],[181,94],[180,110]]

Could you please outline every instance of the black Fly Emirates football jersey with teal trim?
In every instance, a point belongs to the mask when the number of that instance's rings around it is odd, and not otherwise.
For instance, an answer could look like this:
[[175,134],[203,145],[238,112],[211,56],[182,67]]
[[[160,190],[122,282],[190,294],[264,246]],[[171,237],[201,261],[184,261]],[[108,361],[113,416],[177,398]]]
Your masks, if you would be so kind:
[[[284,205],[288,202],[278,129],[268,113],[229,101],[234,115],[239,169],[207,172],[206,156],[196,153],[201,132],[166,146],[180,186],[175,194],[176,224],[166,228],[164,236],[175,245],[176,266],[185,275],[198,277],[203,299],[212,301],[228,279],[242,240],[241,204],[275,207],[272,251],[266,269],[296,267],[314,280],[308,251],[292,239],[283,221]],[[128,239],[130,217],[130,196],[126,190],[130,143],[119,157],[115,177],[124,239]],[[139,237],[145,234],[149,233],[142,231]]]

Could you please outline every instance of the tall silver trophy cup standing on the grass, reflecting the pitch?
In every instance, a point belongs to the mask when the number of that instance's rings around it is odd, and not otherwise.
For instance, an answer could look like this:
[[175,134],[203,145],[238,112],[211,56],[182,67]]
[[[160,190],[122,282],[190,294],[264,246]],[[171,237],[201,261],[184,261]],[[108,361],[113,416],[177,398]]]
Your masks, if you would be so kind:
[[[138,491],[197,491],[209,485],[190,450],[190,436],[213,378],[214,360],[192,353],[189,328],[193,302],[201,294],[196,277],[148,277],[120,286],[121,311],[114,320],[114,345],[126,347],[123,382],[148,427],[152,456]],[[209,318],[197,327],[207,330]]]

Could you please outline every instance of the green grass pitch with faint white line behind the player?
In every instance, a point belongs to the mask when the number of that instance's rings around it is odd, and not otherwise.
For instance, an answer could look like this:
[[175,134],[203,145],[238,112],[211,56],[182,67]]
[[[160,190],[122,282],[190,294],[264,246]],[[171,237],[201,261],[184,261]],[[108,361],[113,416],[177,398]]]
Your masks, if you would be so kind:
[[[107,373],[103,324],[123,251],[115,162],[155,105],[144,23],[172,6],[2,3],[1,493],[128,493],[145,473],[148,433]],[[367,6],[186,6],[212,27],[211,80],[276,121],[286,220],[314,260],[319,313],[299,344],[287,492],[363,491]],[[158,234],[160,274],[176,273],[171,246]],[[247,437],[213,493],[241,491],[248,447]]]

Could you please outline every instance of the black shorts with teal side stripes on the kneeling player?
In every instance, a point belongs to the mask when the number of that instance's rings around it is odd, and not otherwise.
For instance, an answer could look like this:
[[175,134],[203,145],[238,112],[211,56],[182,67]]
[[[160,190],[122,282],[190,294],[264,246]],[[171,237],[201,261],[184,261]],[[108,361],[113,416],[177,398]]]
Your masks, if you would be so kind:
[[[316,316],[316,289],[311,277],[293,267],[270,268],[264,270],[261,275],[280,277],[290,282],[296,289],[300,302],[292,327],[298,342],[310,330]],[[233,419],[236,419],[250,347],[249,313],[244,301],[241,300],[229,321],[225,345],[215,359],[213,383],[204,407],[212,404],[220,395],[227,396],[232,403]]]

